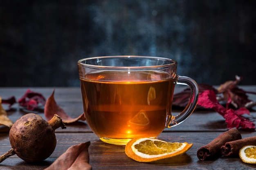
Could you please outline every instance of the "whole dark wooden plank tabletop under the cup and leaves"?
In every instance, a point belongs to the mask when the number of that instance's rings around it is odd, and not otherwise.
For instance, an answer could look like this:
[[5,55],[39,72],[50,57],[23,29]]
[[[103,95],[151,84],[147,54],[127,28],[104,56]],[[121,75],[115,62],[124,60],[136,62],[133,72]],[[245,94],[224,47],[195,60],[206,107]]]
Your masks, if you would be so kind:
[[[256,92],[256,86],[240,86],[247,91]],[[6,99],[15,96],[16,99],[22,97],[27,89],[42,93],[48,98],[53,91],[53,87],[47,88],[0,88],[0,96]],[[175,91],[179,91],[176,88]],[[55,88],[55,100],[65,112],[71,117],[78,117],[83,113],[82,99],[80,88]],[[256,101],[255,95],[249,95],[249,98]],[[8,108],[3,105],[4,108]],[[173,110],[174,114],[180,110]],[[15,122],[19,117],[31,113],[31,111],[23,110],[14,105],[7,110],[9,118]],[[42,110],[32,111],[45,118]],[[255,111],[251,114],[256,116]],[[2,170],[42,170],[47,168],[54,160],[56,160],[70,146],[90,141],[89,147],[90,165],[93,170],[191,170],[191,169],[215,169],[215,170],[243,170],[255,169],[256,165],[243,163],[239,157],[228,158],[219,157],[211,161],[200,161],[196,156],[198,148],[208,144],[215,137],[227,130],[225,119],[213,110],[195,110],[195,112],[182,124],[173,128],[164,130],[158,139],[169,142],[188,142],[193,143],[192,148],[185,155],[156,161],[154,163],[139,163],[126,156],[124,152],[125,146],[115,146],[105,144],[98,139],[90,130],[86,122],[79,125],[68,125],[66,129],[56,130],[57,145],[52,155],[40,164],[29,164],[13,155],[0,163]],[[242,138],[255,136],[256,132],[240,131]],[[0,155],[4,154],[11,148],[8,136],[8,128],[0,127]]]

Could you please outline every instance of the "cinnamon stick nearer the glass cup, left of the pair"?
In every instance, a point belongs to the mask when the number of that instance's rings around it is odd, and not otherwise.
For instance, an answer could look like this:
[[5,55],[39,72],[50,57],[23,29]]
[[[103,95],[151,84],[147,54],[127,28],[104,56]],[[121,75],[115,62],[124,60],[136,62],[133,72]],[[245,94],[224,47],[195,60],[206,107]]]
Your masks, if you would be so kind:
[[210,159],[216,155],[221,155],[220,147],[225,145],[226,142],[235,141],[242,139],[240,132],[237,129],[230,129],[223,132],[218,137],[213,139],[209,144],[202,146],[197,151],[198,159],[204,161],[205,159]]

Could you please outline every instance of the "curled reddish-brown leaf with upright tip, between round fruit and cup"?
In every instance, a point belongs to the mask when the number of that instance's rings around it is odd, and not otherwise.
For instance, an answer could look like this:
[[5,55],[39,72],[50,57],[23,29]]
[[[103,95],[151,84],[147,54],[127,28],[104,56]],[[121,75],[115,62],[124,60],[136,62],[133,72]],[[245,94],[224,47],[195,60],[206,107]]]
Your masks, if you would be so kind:
[[77,118],[72,118],[69,115],[67,115],[67,113],[65,113],[63,108],[58,106],[58,104],[56,103],[56,101],[54,99],[54,92],[55,92],[55,90],[52,92],[52,95],[46,100],[46,103],[45,103],[44,113],[45,113],[45,118],[47,120],[52,119],[54,114],[59,115],[61,117],[63,123],[65,123],[65,124],[74,123],[79,120],[82,120],[82,121],[85,120],[84,114],[81,114]]

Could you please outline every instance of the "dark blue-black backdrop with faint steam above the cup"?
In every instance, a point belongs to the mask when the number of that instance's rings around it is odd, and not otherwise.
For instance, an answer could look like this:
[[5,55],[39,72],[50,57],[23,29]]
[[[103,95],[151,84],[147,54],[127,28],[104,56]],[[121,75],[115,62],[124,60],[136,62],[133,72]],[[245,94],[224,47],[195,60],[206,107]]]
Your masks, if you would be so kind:
[[79,86],[76,62],[177,60],[178,74],[256,84],[255,0],[0,0],[0,86]]

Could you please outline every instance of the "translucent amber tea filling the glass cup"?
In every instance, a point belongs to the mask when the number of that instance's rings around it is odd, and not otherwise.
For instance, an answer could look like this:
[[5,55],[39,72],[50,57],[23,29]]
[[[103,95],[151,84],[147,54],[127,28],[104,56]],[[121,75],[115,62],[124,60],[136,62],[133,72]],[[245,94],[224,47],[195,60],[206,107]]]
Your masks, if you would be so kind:
[[160,80],[163,74],[105,71],[80,77],[92,131],[104,142],[121,145],[135,137],[157,137],[171,116],[175,86],[174,79]]

